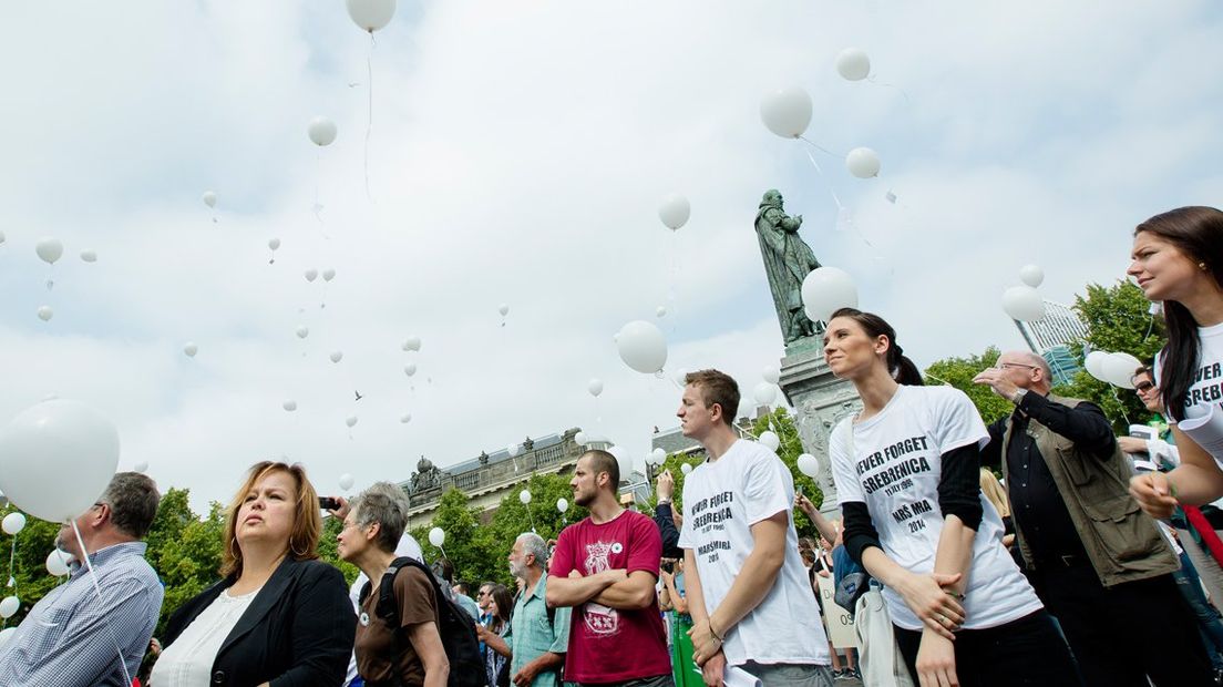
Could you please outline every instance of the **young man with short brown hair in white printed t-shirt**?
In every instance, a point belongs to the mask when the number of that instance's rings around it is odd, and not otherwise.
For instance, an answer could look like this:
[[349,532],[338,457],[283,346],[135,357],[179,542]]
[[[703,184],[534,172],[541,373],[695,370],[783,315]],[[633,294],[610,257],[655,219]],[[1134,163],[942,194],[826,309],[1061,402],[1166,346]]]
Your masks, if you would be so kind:
[[777,454],[739,439],[739,385],[689,374],[675,413],[707,460],[684,482],[684,549],[693,659],[706,685],[728,667],[764,685],[830,686],[828,639],[799,557],[794,478]]

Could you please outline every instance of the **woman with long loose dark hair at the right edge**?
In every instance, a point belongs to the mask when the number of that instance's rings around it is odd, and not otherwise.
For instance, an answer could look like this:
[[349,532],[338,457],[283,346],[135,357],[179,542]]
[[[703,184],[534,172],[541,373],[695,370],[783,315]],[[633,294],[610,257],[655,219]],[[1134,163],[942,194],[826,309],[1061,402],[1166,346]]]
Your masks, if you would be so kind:
[[1140,224],[1126,274],[1163,303],[1168,345],[1153,372],[1180,451],[1179,467],[1137,476],[1130,491],[1168,517],[1178,502],[1223,496],[1223,211],[1178,208]]

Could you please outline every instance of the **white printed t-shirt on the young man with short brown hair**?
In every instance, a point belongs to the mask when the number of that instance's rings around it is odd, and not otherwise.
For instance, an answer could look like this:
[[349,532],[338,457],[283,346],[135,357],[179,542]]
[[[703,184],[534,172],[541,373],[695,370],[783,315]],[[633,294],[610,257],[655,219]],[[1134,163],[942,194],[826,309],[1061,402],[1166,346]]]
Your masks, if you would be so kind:
[[[737,440],[717,461],[697,466],[684,480],[681,549],[692,549],[707,611],[726,598],[752,553],[751,526],[785,511],[785,561],[764,600],[726,631],[729,665],[827,665],[828,636],[807,583],[791,507],[794,477],[777,454]],[[719,628],[720,630],[720,628]]]

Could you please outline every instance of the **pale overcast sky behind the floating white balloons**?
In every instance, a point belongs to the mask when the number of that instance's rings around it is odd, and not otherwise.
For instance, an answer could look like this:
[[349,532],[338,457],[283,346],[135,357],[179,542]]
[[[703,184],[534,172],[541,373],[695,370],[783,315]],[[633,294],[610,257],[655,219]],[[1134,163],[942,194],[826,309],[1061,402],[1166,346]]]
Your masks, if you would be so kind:
[[[669,374],[717,367],[745,396],[781,356],[768,188],[920,366],[1020,347],[999,304],[1020,266],[1071,302],[1123,276],[1141,220],[1223,203],[1221,31],[1208,0],[428,0],[371,53],[340,0],[5,2],[0,419],[92,403],[121,467],[197,507],[262,458],[335,493],[571,427],[640,463],[679,391],[620,362],[621,325],[658,323]],[[837,75],[849,46],[874,82]],[[812,141],[876,149],[881,178],[769,133],[785,86],[813,97]],[[316,115],[339,126],[322,150]]]

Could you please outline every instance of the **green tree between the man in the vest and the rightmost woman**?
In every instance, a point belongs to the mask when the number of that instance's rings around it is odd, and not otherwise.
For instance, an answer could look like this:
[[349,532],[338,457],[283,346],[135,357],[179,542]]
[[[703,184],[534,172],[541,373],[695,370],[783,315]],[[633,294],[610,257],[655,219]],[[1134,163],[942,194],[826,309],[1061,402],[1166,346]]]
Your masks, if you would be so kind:
[[[1142,290],[1129,281],[1118,281],[1113,286],[1088,284],[1087,295],[1076,296],[1074,303],[1075,312],[1087,325],[1087,336],[1074,342],[1071,351],[1080,361],[1085,357],[1085,347],[1090,347],[1130,353],[1150,363],[1168,340],[1163,321],[1151,315],[1150,306]],[[1053,392],[1096,403],[1113,421],[1118,433],[1128,433],[1130,423],[1145,423],[1151,418],[1136,394],[1099,381],[1086,370]]]

